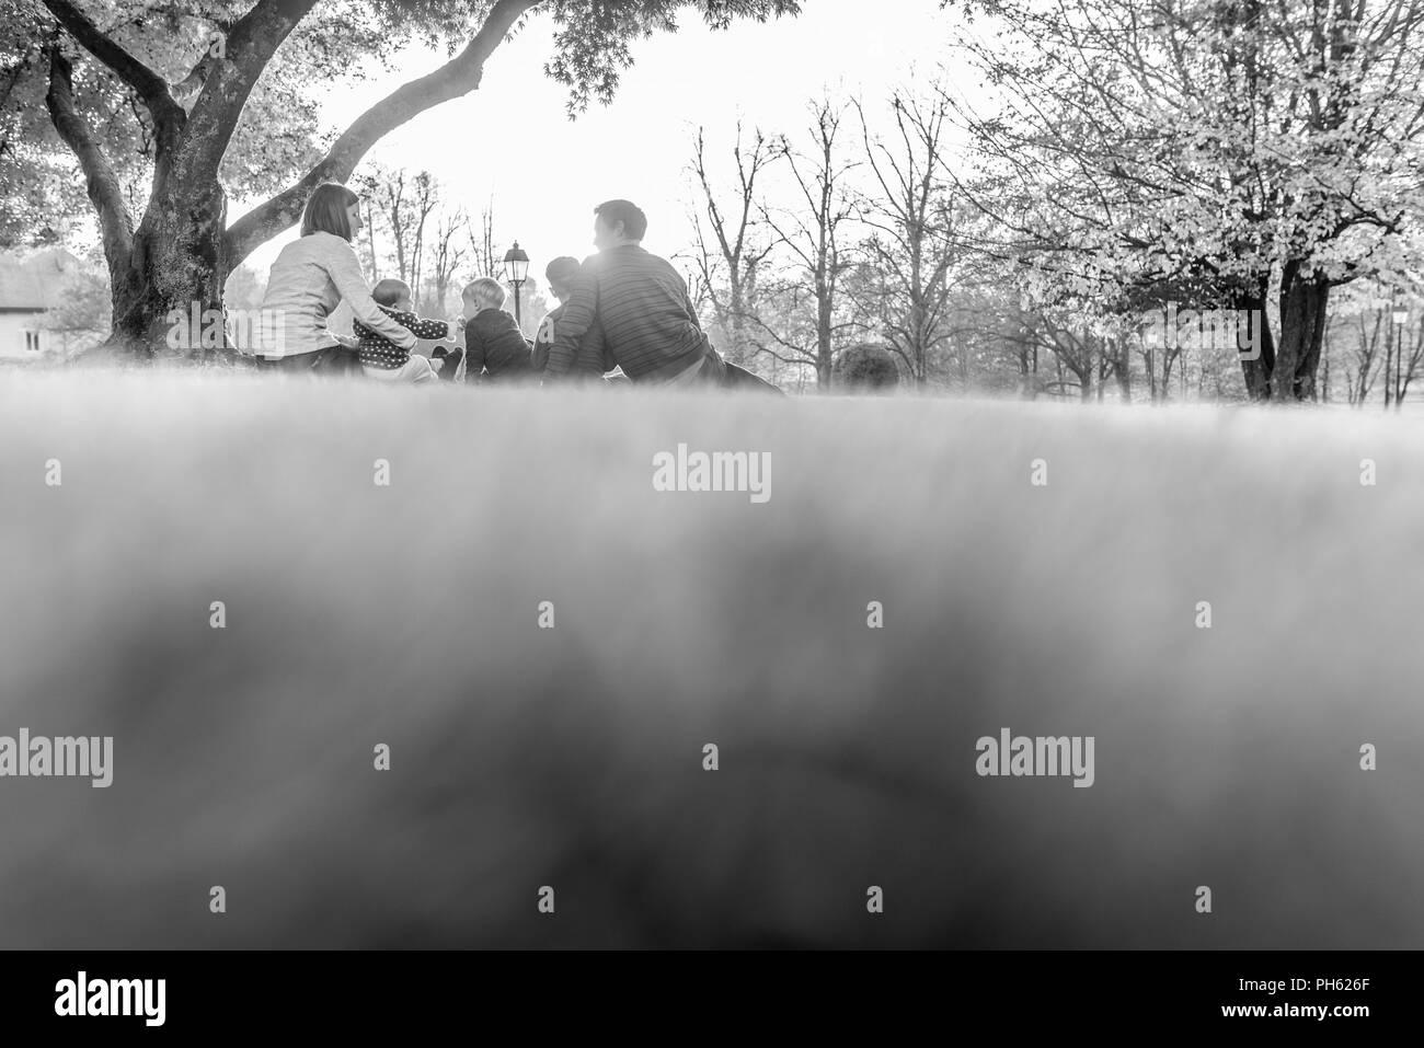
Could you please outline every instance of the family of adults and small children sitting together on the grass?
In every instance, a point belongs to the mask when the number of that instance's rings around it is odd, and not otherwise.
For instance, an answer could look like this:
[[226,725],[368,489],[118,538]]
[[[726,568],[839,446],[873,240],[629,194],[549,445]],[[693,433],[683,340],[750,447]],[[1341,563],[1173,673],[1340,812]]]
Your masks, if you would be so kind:
[[[360,229],[355,192],[337,182],[312,192],[300,238],[272,263],[262,309],[276,323],[256,347],[259,367],[360,373],[389,383],[604,386],[624,380],[776,390],[721,357],[698,323],[682,275],[644,251],[648,219],[628,201],[594,208],[597,255],[582,263],[567,256],[548,263],[544,275],[560,305],[533,342],[504,309],[504,285],[490,276],[464,288],[457,323],[419,316],[410,286],[402,281],[367,288],[352,248]],[[353,336],[326,326],[342,302],[355,318]],[[440,346],[426,357],[412,352],[417,339],[464,346]]]

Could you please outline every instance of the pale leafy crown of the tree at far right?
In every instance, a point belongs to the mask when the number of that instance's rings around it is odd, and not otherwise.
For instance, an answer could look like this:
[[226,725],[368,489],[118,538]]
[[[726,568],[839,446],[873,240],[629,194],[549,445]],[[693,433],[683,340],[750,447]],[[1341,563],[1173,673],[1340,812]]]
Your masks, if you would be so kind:
[[967,50],[1001,107],[960,112],[974,189],[1040,300],[1112,312],[1134,289],[1262,285],[1286,262],[1331,282],[1418,265],[1417,4],[987,7],[1010,31]]

